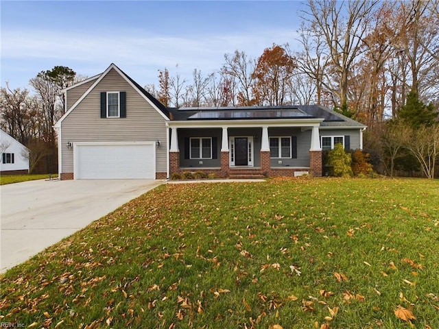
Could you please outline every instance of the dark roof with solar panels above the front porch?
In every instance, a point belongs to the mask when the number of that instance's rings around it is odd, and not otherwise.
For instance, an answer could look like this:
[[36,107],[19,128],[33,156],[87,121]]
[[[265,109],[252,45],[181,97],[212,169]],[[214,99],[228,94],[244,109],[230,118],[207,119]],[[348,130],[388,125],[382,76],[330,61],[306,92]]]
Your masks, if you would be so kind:
[[344,115],[316,105],[168,108],[172,120],[324,119],[322,127],[366,127]]

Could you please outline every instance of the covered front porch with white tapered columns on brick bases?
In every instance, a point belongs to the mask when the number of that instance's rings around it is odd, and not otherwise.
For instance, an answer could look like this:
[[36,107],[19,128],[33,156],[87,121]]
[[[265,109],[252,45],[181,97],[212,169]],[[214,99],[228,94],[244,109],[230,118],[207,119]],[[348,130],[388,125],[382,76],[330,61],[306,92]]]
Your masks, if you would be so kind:
[[221,178],[321,176],[321,121],[170,121],[169,177],[185,171]]

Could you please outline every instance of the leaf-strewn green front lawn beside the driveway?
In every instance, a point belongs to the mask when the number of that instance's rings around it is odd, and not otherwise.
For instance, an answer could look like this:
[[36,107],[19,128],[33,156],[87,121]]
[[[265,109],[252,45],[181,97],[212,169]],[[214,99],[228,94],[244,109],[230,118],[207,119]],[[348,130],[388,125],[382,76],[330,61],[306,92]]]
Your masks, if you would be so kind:
[[1,321],[439,328],[438,250],[437,180],[169,184],[5,273]]

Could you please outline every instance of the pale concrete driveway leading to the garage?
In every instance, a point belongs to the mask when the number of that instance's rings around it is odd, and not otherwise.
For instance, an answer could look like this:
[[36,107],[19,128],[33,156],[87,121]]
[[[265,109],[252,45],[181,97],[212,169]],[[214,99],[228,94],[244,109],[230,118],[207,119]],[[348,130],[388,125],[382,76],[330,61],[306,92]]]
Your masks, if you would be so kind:
[[0,272],[162,183],[162,180],[34,180],[0,186]]

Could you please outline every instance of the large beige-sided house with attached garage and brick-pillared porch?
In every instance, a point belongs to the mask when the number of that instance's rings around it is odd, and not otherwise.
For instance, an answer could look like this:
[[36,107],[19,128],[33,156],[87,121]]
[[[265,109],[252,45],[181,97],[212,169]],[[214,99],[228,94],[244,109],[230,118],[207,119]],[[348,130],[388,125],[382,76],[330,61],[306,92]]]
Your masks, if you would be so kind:
[[322,149],[362,149],[365,125],[321,106],[166,108],[115,64],[64,89],[66,179],[322,175]]

